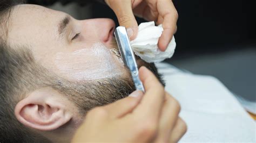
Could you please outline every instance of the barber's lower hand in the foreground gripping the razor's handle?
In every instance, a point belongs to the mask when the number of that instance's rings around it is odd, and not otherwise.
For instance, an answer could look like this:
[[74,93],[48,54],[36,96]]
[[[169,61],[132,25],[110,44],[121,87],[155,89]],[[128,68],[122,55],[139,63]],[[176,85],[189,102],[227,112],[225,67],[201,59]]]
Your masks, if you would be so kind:
[[179,103],[150,70],[139,76],[145,87],[112,104],[89,111],[72,142],[177,142],[186,132]]

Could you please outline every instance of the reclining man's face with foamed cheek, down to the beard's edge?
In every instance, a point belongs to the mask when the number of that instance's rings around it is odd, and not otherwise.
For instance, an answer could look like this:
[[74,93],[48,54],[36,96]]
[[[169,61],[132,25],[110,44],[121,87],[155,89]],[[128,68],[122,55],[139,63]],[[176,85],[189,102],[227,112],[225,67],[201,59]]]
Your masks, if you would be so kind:
[[69,80],[129,75],[112,46],[111,19],[76,20],[42,6],[18,5],[10,27],[11,46],[29,47],[37,62]]

